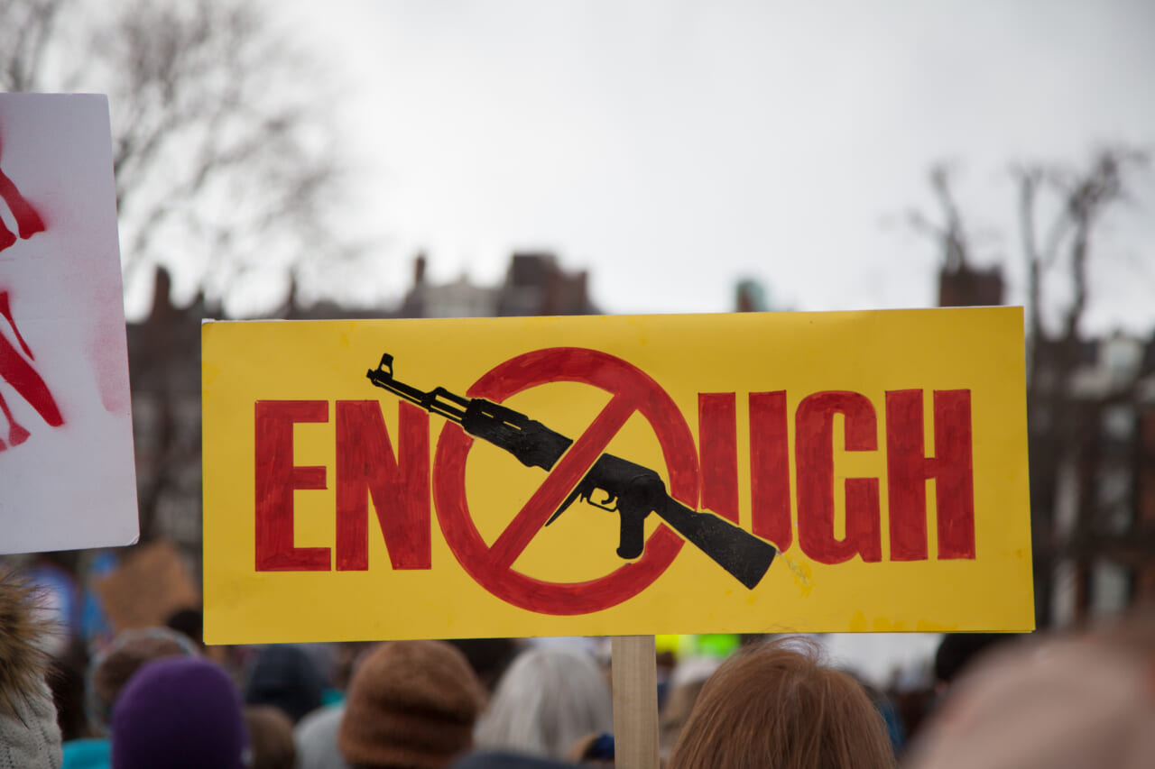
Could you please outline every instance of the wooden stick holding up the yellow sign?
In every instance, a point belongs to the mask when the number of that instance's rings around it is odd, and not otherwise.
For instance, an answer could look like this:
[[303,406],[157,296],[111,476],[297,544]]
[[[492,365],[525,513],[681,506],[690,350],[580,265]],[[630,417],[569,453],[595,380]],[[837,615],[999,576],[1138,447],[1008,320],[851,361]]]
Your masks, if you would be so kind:
[[616,635],[611,655],[614,766],[658,769],[654,636]]

